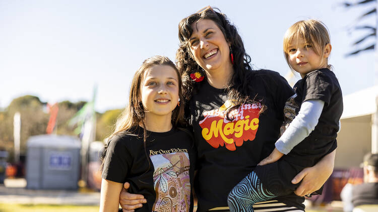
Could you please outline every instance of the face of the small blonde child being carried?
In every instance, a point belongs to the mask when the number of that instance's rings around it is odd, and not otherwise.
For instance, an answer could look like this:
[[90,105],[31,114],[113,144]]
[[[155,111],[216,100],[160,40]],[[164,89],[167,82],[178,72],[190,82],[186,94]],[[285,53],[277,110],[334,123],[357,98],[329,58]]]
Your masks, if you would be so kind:
[[303,78],[307,73],[327,68],[327,58],[331,52],[331,45],[327,44],[323,55],[314,52],[312,44],[306,44],[302,37],[294,38],[287,49],[289,64]]

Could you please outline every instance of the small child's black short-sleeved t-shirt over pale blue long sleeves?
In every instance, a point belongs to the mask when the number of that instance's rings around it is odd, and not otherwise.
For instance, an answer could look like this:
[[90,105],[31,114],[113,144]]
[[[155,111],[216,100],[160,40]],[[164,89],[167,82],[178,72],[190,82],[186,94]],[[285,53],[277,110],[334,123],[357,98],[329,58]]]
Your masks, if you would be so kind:
[[337,147],[343,95],[335,74],[327,68],[307,73],[294,85],[294,90],[297,94],[294,100],[298,104],[296,114],[305,100],[319,99],[325,102],[318,125],[285,157],[289,163],[303,167],[313,166]]

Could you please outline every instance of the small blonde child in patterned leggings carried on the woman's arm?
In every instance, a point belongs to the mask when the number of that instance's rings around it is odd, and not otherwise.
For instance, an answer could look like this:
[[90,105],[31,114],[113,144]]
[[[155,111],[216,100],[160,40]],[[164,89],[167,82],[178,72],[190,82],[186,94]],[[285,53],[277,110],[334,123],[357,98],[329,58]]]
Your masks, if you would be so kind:
[[339,82],[329,69],[332,46],[327,28],[320,21],[299,21],[286,31],[283,49],[289,67],[302,79],[286,102],[275,149],[231,190],[230,211],[253,211],[256,202],[292,193],[297,185],[291,179],[337,147],[343,101]]

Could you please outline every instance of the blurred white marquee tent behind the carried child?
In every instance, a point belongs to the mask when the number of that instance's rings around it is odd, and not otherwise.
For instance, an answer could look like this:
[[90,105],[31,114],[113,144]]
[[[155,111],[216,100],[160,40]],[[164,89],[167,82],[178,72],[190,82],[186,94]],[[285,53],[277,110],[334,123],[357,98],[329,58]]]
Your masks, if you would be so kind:
[[343,96],[335,168],[357,167],[368,152],[378,153],[378,85]]

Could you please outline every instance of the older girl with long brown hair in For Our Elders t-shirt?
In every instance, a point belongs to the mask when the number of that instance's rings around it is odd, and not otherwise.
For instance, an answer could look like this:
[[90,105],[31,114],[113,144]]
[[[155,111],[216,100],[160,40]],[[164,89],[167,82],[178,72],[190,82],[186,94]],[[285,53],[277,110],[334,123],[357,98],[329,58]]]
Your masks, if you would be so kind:
[[124,182],[147,200],[136,211],[192,211],[195,155],[182,124],[181,77],[167,57],[146,59],[135,73],[128,107],[103,153],[100,211],[118,211]]

